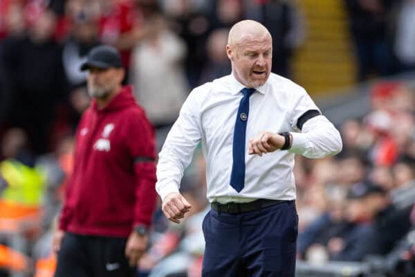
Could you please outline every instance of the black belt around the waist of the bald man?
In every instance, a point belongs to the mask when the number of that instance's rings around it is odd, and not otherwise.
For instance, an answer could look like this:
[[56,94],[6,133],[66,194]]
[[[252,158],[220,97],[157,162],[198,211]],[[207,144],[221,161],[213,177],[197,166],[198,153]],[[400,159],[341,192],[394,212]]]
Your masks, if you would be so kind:
[[252,202],[248,203],[234,203],[230,202],[227,204],[220,204],[219,202],[212,202],[210,206],[214,211],[218,211],[219,213],[246,213],[251,211],[259,211],[262,208],[266,208],[269,206],[288,203],[291,200],[272,200],[272,199],[257,199]]

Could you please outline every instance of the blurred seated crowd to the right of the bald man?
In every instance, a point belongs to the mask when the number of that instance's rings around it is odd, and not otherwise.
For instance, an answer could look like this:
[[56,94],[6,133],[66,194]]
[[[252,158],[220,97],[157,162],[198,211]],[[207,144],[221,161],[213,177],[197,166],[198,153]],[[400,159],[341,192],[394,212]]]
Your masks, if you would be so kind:
[[413,276],[414,88],[379,82],[370,105],[366,116],[340,127],[337,157],[297,157],[298,258],[317,264],[381,258],[390,276]]

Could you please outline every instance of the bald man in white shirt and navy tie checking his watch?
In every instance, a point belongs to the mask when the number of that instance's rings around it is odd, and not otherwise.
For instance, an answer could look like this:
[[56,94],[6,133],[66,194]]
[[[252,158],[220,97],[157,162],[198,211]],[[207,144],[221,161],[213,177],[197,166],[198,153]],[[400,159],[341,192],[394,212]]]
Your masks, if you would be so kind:
[[223,50],[232,73],[190,93],[159,154],[163,213],[180,223],[192,208],[179,184],[201,142],[211,203],[202,276],[295,276],[294,156],[337,154],[340,134],[302,87],[270,73],[264,26],[240,21]]

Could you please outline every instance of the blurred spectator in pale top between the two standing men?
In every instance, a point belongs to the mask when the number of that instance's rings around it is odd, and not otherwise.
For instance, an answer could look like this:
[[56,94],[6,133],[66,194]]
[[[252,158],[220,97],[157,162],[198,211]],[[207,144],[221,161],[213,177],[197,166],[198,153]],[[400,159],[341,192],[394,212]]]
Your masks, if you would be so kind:
[[[133,51],[131,80],[138,102],[156,127],[160,149],[187,95],[183,68],[187,49],[183,39],[167,28],[163,16],[154,15],[148,24],[151,35]],[[163,82],[157,81],[160,76]]]

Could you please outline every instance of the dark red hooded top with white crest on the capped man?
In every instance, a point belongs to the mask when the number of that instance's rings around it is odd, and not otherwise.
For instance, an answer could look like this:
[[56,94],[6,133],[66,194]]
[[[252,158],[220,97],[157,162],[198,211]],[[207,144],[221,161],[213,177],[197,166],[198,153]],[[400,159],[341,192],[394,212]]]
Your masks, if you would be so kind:
[[156,206],[154,129],[123,87],[107,107],[95,100],[77,128],[75,165],[59,229],[127,237],[149,226]]

